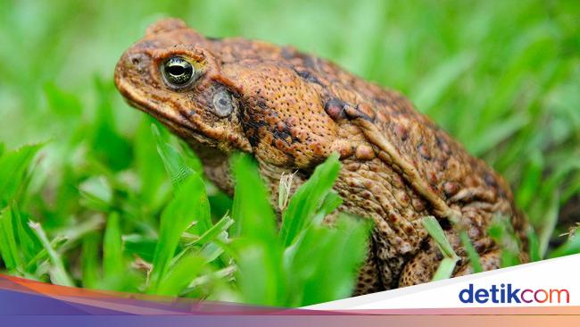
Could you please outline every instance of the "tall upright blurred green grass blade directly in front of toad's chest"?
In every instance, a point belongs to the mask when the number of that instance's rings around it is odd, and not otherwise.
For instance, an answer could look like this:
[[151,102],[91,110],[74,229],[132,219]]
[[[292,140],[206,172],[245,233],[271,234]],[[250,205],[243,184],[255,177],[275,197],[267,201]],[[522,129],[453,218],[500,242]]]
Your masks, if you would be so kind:
[[238,239],[235,252],[237,286],[245,303],[277,306],[284,302],[286,276],[276,231],[276,217],[258,168],[249,155],[232,158],[236,193],[232,217]]

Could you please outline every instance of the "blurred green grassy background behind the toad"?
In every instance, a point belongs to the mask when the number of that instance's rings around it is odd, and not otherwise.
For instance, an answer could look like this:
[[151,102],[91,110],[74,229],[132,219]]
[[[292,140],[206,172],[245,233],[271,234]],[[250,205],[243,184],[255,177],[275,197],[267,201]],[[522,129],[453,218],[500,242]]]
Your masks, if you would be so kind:
[[[154,221],[167,202],[151,121],[112,86],[122,52],[164,16],[207,36],[293,45],[401,90],[510,181],[540,256],[573,239],[578,1],[0,0],[0,142],[47,142],[21,206],[49,235],[99,210]],[[87,194],[105,203],[87,205]],[[225,213],[229,200],[210,197]]]

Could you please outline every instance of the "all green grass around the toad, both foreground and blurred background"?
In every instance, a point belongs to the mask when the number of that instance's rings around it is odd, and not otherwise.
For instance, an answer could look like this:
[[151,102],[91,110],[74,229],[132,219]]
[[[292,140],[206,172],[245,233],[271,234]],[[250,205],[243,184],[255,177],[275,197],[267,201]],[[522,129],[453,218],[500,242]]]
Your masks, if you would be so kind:
[[[2,272],[274,306],[350,294],[368,226],[348,217],[320,225],[340,204],[330,190],[335,159],[294,197],[282,188],[278,230],[250,158],[234,158],[231,199],[203,179],[195,155],[123,103],[114,64],[164,15],[210,36],[291,44],[401,90],[510,182],[534,228],[532,259],[580,253],[576,1],[0,0],[0,8]],[[492,230],[506,265],[517,255],[508,230],[500,218]]]

